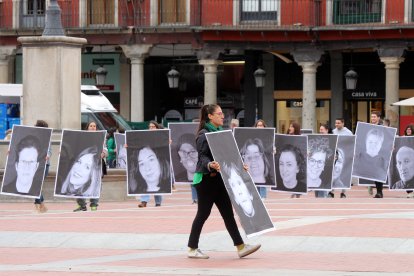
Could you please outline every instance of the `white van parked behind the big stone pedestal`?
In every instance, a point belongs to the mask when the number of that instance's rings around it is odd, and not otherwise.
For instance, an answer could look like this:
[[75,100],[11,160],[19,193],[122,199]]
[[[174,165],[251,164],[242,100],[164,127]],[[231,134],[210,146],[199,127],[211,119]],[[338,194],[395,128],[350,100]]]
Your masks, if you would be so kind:
[[[22,95],[22,84],[0,84],[0,103],[20,104]],[[90,121],[95,121],[98,129],[131,129],[111,102],[94,85],[81,85],[81,113],[82,129]]]

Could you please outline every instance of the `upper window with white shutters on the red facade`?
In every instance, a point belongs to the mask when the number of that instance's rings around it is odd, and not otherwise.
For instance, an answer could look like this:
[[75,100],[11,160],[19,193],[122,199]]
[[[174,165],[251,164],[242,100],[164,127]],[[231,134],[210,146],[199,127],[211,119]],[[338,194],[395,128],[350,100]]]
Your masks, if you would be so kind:
[[241,20],[277,20],[277,5],[275,0],[242,0]]

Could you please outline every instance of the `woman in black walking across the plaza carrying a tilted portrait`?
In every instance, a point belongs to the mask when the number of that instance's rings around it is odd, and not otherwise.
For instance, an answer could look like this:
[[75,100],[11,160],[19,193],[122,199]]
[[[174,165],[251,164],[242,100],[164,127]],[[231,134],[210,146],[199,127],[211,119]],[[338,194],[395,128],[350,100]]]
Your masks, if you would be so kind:
[[220,175],[220,164],[214,161],[206,133],[222,130],[224,114],[221,107],[215,104],[204,105],[200,111],[200,124],[197,131],[196,145],[198,162],[194,174],[193,185],[198,194],[197,214],[194,218],[188,240],[189,258],[208,259],[209,256],[198,248],[201,231],[211,213],[213,204],[220,211],[233,244],[237,247],[240,258],[256,252],[260,245],[249,245],[243,242],[234,218],[230,197]]

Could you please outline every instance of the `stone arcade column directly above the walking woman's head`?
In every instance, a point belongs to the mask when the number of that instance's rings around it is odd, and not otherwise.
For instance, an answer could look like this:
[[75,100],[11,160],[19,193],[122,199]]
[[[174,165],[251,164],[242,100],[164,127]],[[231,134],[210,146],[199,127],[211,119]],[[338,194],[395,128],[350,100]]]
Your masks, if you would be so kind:
[[215,59],[201,59],[198,61],[204,66],[204,104],[217,103],[217,66],[222,61]]

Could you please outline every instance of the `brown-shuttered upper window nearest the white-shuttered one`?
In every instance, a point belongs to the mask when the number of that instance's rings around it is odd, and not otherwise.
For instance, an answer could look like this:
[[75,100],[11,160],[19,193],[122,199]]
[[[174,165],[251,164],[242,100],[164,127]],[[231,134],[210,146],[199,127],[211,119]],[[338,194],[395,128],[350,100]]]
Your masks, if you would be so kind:
[[185,23],[187,16],[186,0],[161,0],[161,23]]

